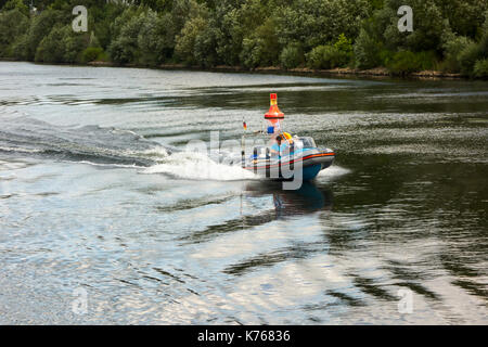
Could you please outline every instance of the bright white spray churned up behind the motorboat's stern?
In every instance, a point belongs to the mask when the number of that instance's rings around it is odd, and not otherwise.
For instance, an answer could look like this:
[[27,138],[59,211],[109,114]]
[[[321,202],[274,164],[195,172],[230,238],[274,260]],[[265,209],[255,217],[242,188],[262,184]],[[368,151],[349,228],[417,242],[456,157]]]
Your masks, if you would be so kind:
[[189,180],[236,181],[258,179],[240,166],[219,164],[197,152],[178,152],[151,166],[143,174],[167,174]]

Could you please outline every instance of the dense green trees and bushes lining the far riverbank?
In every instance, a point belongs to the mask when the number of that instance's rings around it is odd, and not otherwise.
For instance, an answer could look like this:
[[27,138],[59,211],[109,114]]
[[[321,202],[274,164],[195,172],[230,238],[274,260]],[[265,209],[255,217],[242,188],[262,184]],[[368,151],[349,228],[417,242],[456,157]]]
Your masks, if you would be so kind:
[[[76,5],[88,31],[75,33]],[[401,5],[413,31],[398,30]],[[488,78],[486,0],[0,0],[0,57],[245,68],[386,67]]]

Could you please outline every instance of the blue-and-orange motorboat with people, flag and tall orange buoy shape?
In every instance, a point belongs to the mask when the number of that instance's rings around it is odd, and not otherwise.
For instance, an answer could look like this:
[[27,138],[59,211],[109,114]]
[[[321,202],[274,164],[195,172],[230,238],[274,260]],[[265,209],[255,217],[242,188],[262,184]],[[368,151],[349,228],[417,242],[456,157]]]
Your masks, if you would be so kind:
[[[243,145],[242,167],[273,180],[288,180],[297,177],[306,181],[314,179],[321,170],[332,165],[335,158],[334,151],[319,149],[310,137],[292,137],[288,132],[283,132],[284,114],[278,107],[275,93],[270,95],[270,103],[271,106],[265,114],[265,119],[268,123],[266,133],[270,136],[272,145],[254,146],[253,154],[247,158]],[[245,121],[243,126],[247,129]]]

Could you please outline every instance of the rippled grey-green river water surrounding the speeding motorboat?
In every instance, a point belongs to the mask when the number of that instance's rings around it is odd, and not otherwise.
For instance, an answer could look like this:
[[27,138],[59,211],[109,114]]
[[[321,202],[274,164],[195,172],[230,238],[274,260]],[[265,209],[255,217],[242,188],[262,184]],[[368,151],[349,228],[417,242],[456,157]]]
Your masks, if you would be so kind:
[[[270,92],[314,182],[185,151]],[[0,63],[0,323],[487,324],[487,126],[483,81]]]

